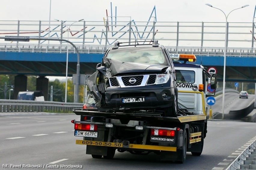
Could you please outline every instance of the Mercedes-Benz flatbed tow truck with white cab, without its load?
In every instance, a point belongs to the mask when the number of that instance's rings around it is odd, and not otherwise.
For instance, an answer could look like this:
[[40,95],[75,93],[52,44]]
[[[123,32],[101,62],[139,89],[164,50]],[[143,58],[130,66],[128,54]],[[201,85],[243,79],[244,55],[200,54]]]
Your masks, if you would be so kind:
[[[195,55],[169,54],[178,88],[178,113],[169,117],[157,111],[107,112],[73,109],[80,120],[74,123],[76,144],[87,145],[93,158],[112,159],[115,152],[160,155],[160,160],[184,163],[186,153],[200,156],[207,133],[207,86],[216,89],[216,74],[202,65],[189,64]],[[183,61],[183,63],[181,62]]]

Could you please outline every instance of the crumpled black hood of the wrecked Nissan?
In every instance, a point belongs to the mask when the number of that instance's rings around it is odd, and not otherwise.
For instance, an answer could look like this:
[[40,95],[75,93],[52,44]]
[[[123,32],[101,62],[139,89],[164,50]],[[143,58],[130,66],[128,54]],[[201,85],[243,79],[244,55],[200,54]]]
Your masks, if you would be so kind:
[[168,66],[160,64],[143,64],[130,63],[103,58],[103,63],[106,66],[106,77],[115,76],[122,73],[138,73],[138,72],[158,72],[163,73]]

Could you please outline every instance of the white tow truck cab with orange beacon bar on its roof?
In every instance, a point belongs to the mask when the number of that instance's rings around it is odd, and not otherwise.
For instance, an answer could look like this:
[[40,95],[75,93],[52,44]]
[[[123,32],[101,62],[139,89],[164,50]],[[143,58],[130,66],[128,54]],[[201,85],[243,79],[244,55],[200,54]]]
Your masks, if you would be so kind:
[[194,114],[207,115],[206,97],[215,94],[216,74],[209,74],[202,65],[187,63],[195,62],[195,55],[169,55],[175,67],[179,108]]

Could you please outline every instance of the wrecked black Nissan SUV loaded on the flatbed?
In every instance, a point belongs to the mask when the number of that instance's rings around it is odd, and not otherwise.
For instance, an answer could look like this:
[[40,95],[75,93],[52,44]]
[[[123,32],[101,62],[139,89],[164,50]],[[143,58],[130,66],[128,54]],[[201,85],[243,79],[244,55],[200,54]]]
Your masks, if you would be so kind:
[[99,111],[177,116],[175,69],[158,40],[115,42],[96,69],[86,82]]

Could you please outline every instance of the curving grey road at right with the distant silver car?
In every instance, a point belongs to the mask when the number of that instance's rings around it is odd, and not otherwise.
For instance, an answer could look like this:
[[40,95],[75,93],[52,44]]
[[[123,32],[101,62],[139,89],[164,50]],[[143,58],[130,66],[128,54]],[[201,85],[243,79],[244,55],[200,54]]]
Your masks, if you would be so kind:
[[[224,113],[228,114],[230,110],[241,110],[254,100],[254,94],[248,94],[248,99],[239,98],[237,93],[226,93],[224,101]],[[211,106],[212,113],[222,113],[222,95],[215,97],[215,104]],[[209,106],[210,109],[210,106]]]

